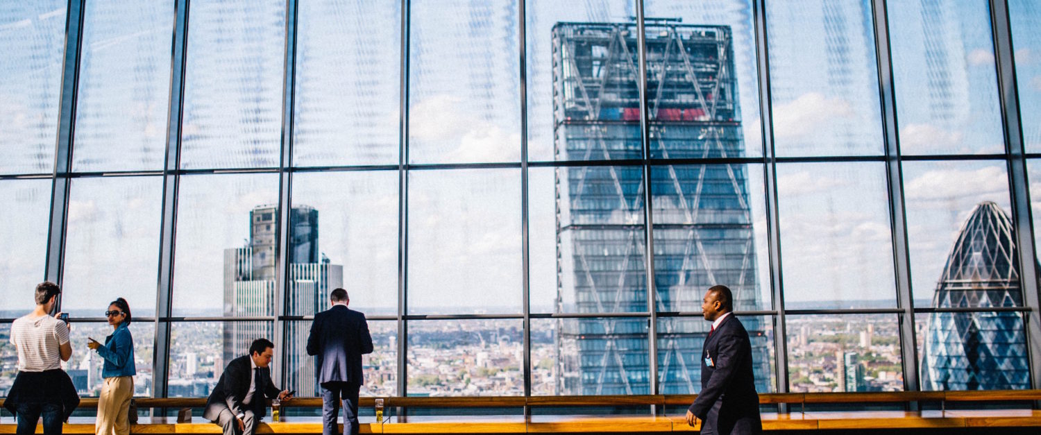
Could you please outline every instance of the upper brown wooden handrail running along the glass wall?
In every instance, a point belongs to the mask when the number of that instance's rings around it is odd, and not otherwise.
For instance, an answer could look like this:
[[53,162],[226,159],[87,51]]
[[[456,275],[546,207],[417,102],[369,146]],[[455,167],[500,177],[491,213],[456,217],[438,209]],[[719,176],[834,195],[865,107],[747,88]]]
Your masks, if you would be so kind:
[[[583,406],[642,406],[690,404],[696,394],[633,394],[633,395],[494,395],[382,398],[385,407],[415,408],[519,408],[530,407],[583,407]],[[856,404],[902,402],[1029,402],[1041,401],[1041,389],[996,391],[892,391],[892,392],[785,392],[759,394],[762,405],[775,404]],[[205,398],[134,398],[138,408],[202,408]],[[376,398],[360,398],[358,405],[372,407]],[[3,399],[0,399],[3,406]],[[80,400],[81,408],[98,406],[96,398]],[[320,398],[299,398],[285,404],[293,408],[318,408]]]

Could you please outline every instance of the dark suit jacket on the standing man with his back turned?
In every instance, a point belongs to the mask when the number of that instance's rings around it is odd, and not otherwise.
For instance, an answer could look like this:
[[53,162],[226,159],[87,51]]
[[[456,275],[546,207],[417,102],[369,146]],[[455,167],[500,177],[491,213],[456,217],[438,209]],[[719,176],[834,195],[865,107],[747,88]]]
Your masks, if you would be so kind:
[[307,355],[318,356],[319,384],[347,382],[362,385],[361,355],[373,353],[365,314],[334,305],[314,314],[307,337]]

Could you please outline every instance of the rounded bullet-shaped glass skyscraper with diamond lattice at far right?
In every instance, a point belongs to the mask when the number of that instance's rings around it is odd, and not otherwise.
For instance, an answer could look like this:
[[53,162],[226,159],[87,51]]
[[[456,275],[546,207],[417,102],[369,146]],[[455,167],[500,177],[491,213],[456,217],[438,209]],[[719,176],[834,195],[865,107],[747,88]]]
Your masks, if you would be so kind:
[[[1016,230],[984,202],[962,226],[933,296],[934,308],[1020,307]],[[1023,321],[1017,312],[934,312],[922,350],[922,388],[1030,388]]]

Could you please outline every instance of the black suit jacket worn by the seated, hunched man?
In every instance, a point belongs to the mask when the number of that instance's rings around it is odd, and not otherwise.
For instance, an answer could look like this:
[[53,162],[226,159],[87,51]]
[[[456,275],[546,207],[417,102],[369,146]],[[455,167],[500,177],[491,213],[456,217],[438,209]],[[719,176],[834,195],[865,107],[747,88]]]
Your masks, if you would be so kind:
[[257,418],[263,417],[268,412],[264,398],[275,399],[282,391],[275,387],[271,381],[271,368],[260,367],[255,380],[257,390],[253,393],[253,401],[249,405],[243,405],[246,393],[250,391],[250,377],[252,376],[253,364],[250,363],[249,355],[231,360],[224,368],[224,374],[221,375],[221,380],[217,382],[213,391],[209,393],[202,416],[209,420],[217,420],[221,411],[228,408],[235,415],[252,410]]

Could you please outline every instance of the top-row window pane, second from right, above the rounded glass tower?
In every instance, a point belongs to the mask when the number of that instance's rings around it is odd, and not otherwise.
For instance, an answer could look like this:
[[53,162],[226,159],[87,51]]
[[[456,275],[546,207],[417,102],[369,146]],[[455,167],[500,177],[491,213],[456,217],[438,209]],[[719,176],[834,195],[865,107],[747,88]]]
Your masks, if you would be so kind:
[[1005,150],[987,0],[886,2],[904,154]]

